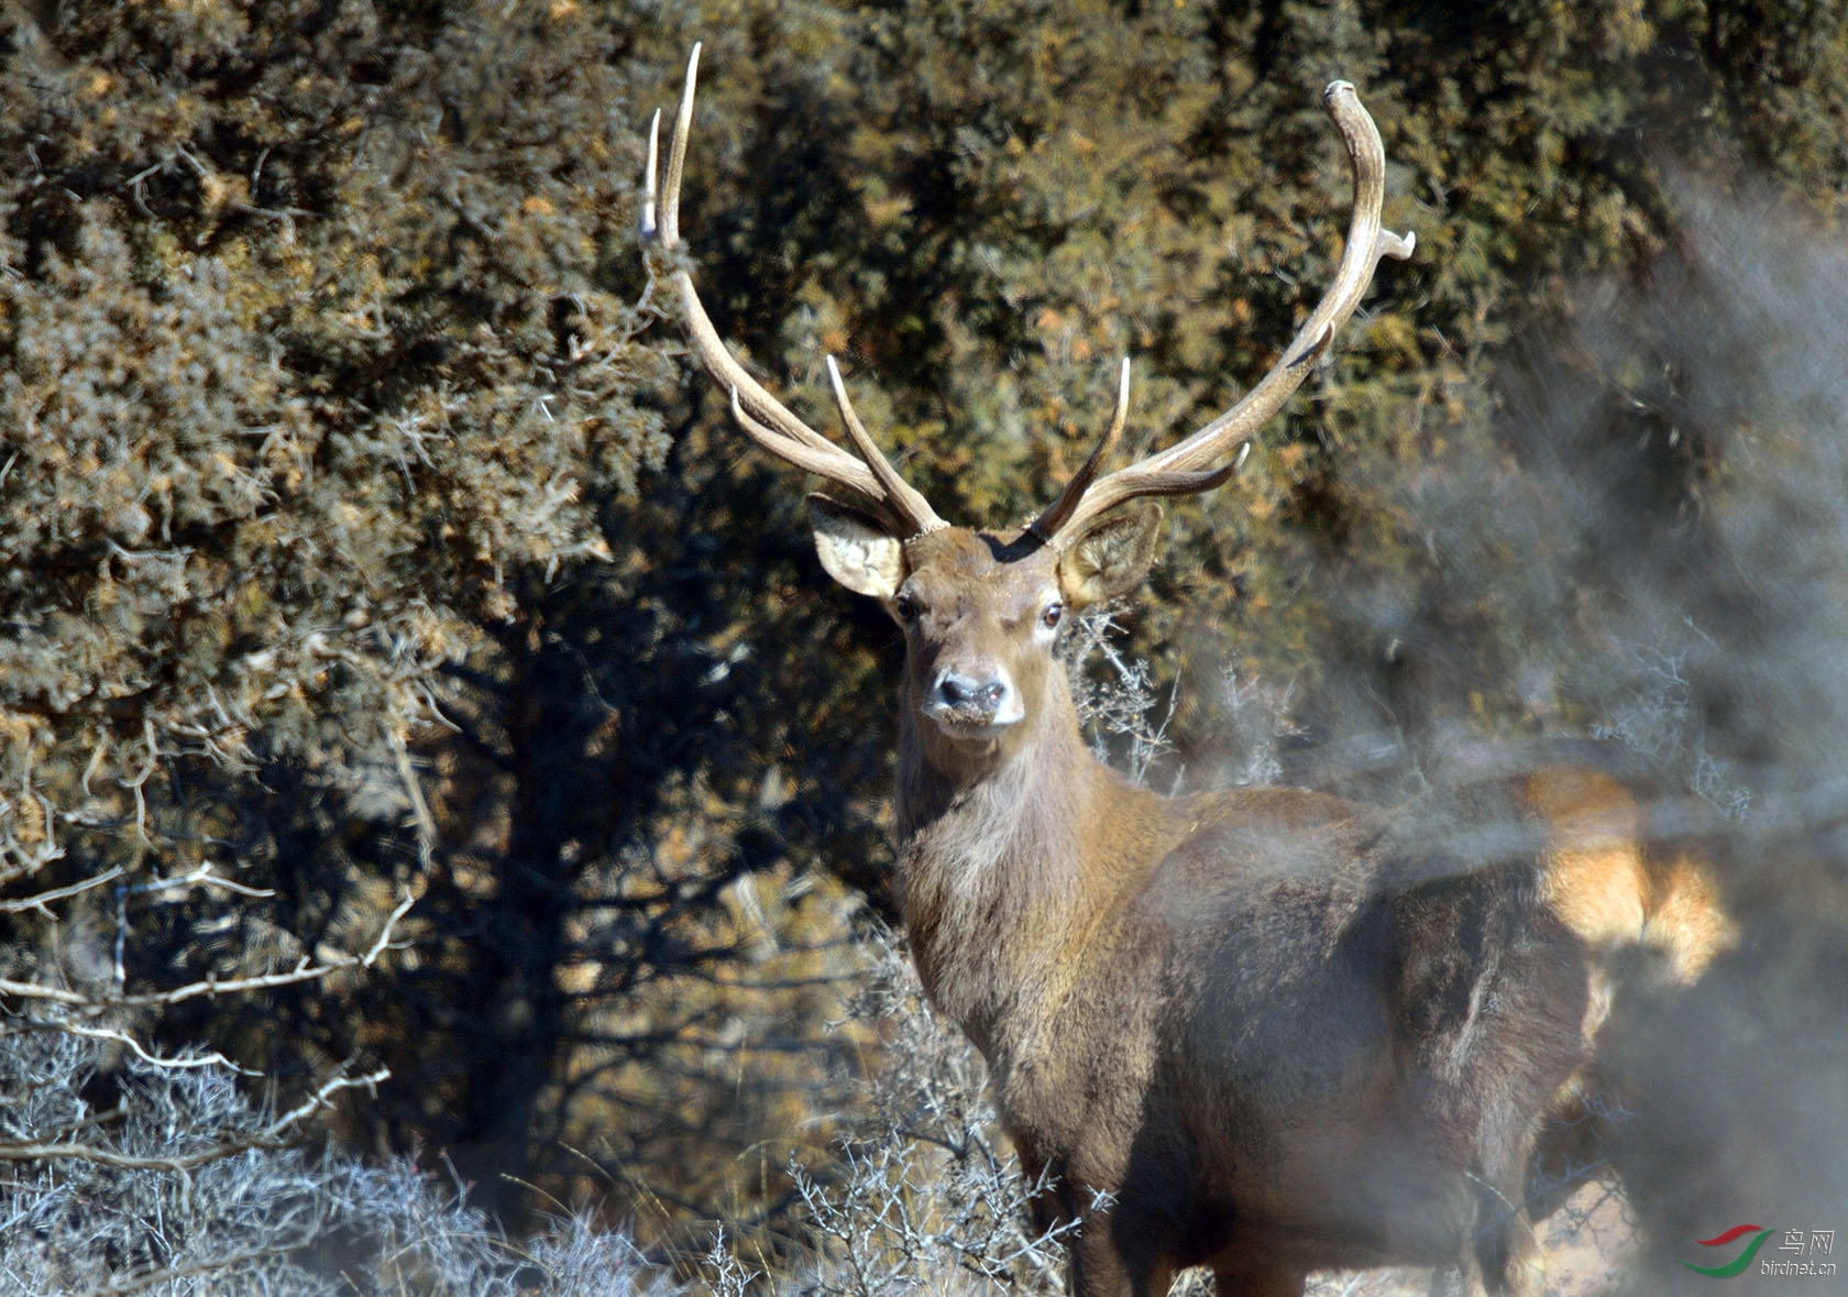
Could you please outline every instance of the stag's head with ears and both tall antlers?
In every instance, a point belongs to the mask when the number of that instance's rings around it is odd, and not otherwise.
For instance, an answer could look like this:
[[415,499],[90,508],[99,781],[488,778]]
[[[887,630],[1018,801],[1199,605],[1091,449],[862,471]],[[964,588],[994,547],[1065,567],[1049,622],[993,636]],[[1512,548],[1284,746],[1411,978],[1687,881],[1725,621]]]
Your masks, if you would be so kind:
[[[687,63],[662,187],[656,187],[660,113],[649,133],[641,233],[662,251],[680,248],[680,176],[697,72],[699,46]],[[719,340],[691,273],[671,272],[699,362],[730,394],[739,429],[837,491],[837,497],[809,497],[822,567],[848,589],[878,599],[904,628],[907,737],[915,732],[941,761],[1005,750],[1042,719],[1064,722],[1070,700],[1052,658],[1055,632],[1070,612],[1116,599],[1142,582],[1161,521],[1161,508],[1149,497],[1209,491],[1233,477],[1249,438],[1283,408],[1355,312],[1380,257],[1412,253],[1410,235],[1401,238],[1380,227],[1384,152],[1355,89],[1334,81],[1323,103],[1347,142],[1355,214],[1321,305],[1242,401],[1175,445],[1105,473],[1129,418],[1124,360],[1116,410],[1096,449],[1064,491],[1020,530],[944,523],[874,445],[832,357],[828,379],[852,453],[808,427]]]

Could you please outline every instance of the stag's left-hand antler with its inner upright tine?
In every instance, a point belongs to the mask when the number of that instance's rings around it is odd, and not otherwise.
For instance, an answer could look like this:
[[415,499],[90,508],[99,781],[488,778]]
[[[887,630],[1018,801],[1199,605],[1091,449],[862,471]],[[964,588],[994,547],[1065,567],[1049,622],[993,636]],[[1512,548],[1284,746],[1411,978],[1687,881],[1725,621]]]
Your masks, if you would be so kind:
[[[654,115],[649,126],[649,174],[641,200],[641,240],[663,253],[680,248],[680,174],[686,166],[687,131],[693,126],[693,85],[699,79],[699,52],[687,59],[687,83],[680,96],[680,115],[675,118],[673,142],[667,148],[667,183],[660,190],[660,220],[656,220],[656,168],[660,161],[662,115]],[[732,395],[732,418],[745,434],[787,464],[824,477],[837,486],[850,490],[869,503],[876,512],[885,514],[907,534],[935,532],[948,527],[930,503],[887,462],[880,449],[867,436],[867,429],[854,414],[841,382],[841,371],[828,357],[828,379],[833,384],[835,403],[841,406],[841,421],[846,425],[854,455],[824,438],[808,423],[798,419],[789,408],[763,390],[756,379],[737,362],[737,357],[719,338],[711,325],[711,316],[700,305],[693,288],[693,275],[686,268],[669,273],[669,281],[680,292],[680,318],[686,325],[687,340],[699,355],[700,366],[719,384],[719,390]]]

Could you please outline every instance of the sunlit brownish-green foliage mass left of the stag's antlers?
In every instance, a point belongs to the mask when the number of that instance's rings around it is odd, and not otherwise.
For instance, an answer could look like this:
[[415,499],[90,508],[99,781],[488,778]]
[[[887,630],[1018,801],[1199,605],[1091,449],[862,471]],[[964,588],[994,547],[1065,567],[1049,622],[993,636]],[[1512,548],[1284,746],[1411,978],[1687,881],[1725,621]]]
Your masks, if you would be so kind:
[[608,556],[593,501],[665,449],[667,368],[591,281],[632,187],[608,35],[408,35],[98,6],[13,63],[6,671],[91,787],[255,735],[383,759],[506,571]]

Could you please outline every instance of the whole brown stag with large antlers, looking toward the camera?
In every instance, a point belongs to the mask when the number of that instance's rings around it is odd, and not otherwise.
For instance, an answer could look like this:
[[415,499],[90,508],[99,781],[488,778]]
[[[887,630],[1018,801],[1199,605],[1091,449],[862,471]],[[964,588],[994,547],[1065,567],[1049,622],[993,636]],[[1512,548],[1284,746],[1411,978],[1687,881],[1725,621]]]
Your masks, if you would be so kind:
[[[643,238],[680,249],[699,50]],[[1205,491],[1353,314],[1380,257],[1384,153],[1345,81],[1325,92],[1355,214],[1334,285],[1242,401],[1103,473],[1116,412],[1022,530],[944,523],[881,456],[828,362],[854,453],[776,401],[663,268],[700,364],[771,455],[826,479],[822,567],[904,630],[896,820],[906,935],[931,1001],[989,1061],[1042,1227],[1079,1219],[1077,1293],[1299,1293],[1331,1266],[1460,1264],[1469,1291],[1539,1286],[1528,1166],[1574,1101],[1602,1020],[1597,955],[1665,946],[1685,968],[1719,922],[1687,867],[1658,868],[1635,804],[1549,770],[1382,811],[1294,789],[1162,798],[1100,763],[1053,639],[1133,589],[1155,495]]]

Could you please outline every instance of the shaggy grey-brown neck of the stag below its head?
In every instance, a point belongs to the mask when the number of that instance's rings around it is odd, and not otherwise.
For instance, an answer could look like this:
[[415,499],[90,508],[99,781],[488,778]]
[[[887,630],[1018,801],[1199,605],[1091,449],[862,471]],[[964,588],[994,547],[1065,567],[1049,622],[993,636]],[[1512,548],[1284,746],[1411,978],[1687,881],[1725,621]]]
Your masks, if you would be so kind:
[[[974,746],[906,708],[896,818],[906,935],[931,1001],[989,1062],[1063,1000],[1079,952],[1140,885],[1162,800],[1085,746],[1063,680]],[[1138,831],[1144,830],[1144,831]]]

